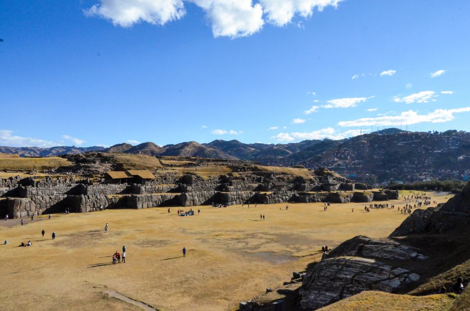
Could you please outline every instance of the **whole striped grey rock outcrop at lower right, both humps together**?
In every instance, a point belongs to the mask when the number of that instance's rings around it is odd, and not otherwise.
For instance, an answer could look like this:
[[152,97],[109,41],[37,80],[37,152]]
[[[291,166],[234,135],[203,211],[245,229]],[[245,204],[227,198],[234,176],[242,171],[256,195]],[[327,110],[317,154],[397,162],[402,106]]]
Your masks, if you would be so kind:
[[300,306],[318,309],[364,290],[400,291],[420,279],[400,267],[400,262],[426,258],[415,247],[356,236],[325,253],[322,261],[307,271],[299,291]]

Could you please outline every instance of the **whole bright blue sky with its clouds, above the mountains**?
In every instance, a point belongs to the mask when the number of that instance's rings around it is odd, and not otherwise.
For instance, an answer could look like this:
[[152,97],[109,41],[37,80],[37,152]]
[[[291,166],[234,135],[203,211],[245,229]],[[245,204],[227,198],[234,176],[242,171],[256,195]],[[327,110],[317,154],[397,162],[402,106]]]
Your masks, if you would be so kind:
[[470,131],[469,12],[467,0],[2,0],[0,145]]

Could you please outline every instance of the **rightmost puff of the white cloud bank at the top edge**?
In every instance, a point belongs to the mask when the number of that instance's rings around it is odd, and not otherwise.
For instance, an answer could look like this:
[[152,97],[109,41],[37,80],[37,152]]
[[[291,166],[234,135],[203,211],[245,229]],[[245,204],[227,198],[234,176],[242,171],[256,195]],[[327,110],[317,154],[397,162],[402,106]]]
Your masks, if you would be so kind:
[[326,6],[337,7],[341,0],[260,0],[267,20],[277,26],[284,26],[298,14],[308,18],[313,11],[323,11]]

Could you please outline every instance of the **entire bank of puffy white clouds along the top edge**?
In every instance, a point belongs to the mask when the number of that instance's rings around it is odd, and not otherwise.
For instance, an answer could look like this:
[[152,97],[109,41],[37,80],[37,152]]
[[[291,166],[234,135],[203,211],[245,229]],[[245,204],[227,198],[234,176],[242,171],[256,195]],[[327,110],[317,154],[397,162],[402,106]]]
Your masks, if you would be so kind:
[[[95,0],[87,16],[110,20],[115,25],[130,27],[148,22],[164,25],[182,19],[186,14],[185,3],[194,3],[204,10],[211,23],[214,37],[244,37],[258,32],[268,22],[284,26],[295,15],[309,18],[314,10],[326,6],[337,7],[342,0]],[[258,3],[259,2],[259,3]],[[264,13],[264,17],[263,17]],[[303,27],[302,22],[297,23]]]

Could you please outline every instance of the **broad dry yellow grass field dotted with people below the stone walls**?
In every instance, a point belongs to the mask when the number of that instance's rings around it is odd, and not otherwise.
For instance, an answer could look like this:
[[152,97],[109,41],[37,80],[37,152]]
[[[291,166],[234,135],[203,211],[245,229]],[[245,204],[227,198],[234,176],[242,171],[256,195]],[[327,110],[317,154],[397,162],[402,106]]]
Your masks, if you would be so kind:
[[[318,261],[322,244],[385,237],[406,217],[396,209],[364,213],[364,205],[202,206],[189,217],[177,216],[178,207],[118,209],[41,216],[24,226],[1,221],[0,241],[9,244],[0,245],[0,310],[137,310],[116,293],[159,310],[234,310]],[[32,246],[18,246],[28,240]],[[127,263],[112,265],[123,244]]]

